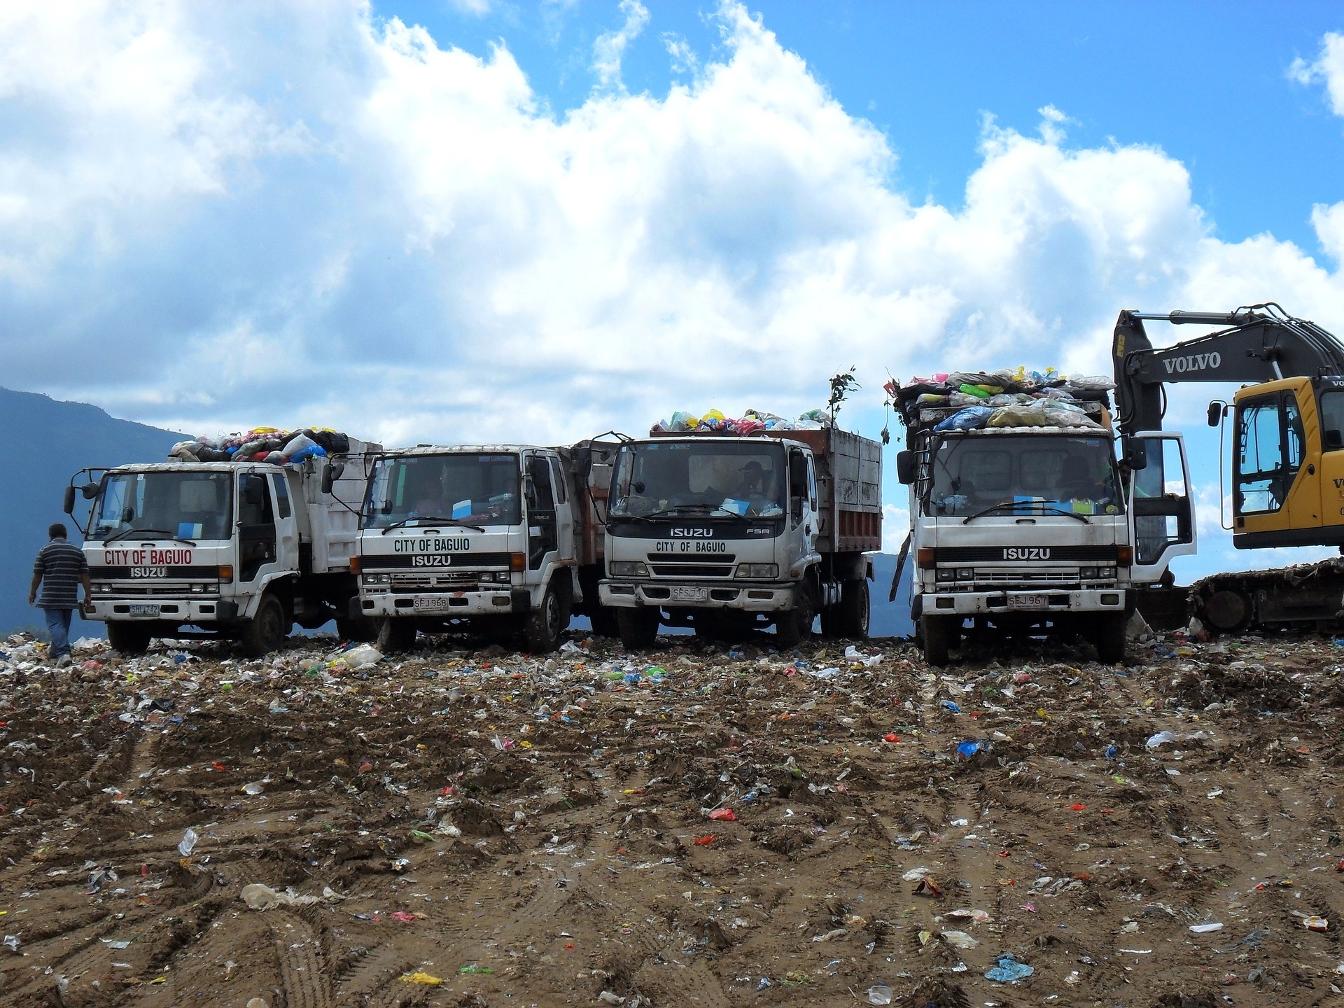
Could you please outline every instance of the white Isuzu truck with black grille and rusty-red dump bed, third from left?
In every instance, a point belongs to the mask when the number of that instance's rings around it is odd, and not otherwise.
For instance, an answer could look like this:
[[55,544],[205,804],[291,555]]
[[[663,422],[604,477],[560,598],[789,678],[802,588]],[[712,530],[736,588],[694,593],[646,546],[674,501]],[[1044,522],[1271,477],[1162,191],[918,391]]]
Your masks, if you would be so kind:
[[882,548],[882,445],[835,427],[664,431],[620,446],[602,605],[626,648],[659,626],[864,637]]

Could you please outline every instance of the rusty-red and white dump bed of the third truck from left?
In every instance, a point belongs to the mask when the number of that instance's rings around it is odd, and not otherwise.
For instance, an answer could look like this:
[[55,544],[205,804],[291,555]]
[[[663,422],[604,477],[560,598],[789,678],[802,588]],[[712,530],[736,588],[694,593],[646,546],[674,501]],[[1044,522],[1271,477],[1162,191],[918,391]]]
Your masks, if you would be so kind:
[[[653,430],[655,438],[737,437],[715,430]],[[882,548],[882,445],[836,427],[761,430],[749,437],[797,441],[817,460],[817,504],[821,554],[872,552]]]

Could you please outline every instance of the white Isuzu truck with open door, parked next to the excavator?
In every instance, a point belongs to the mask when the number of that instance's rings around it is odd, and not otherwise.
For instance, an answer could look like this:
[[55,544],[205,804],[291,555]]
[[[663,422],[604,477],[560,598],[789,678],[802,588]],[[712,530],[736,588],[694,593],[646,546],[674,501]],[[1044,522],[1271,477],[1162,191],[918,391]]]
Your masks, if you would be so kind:
[[[930,664],[948,664],[968,625],[1078,634],[1101,661],[1124,660],[1138,587],[1193,552],[1195,539],[1180,437],[1154,434],[1154,461],[1130,478],[1106,399],[1094,390],[1064,406],[969,413],[907,401],[907,449],[896,457],[910,487],[900,562],[914,559],[910,616]],[[1001,425],[996,410],[1007,410]],[[1136,519],[1136,495],[1167,499],[1171,517],[1140,507]]]

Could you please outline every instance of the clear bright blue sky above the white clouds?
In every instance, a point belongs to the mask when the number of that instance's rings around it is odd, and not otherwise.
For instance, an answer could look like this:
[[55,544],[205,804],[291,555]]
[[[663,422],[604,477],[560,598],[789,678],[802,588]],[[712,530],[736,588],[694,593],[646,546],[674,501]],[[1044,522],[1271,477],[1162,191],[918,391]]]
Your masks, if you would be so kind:
[[[667,94],[667,35],[702,59],[720,46],[706,3],[644,3],[648,27],[626,48],[630,91]],[[376,3],[485,54],[503,40],[555,112],[593,89],[593,40],[620,28],[616,3]],[[985,114],[1030,132],[1055,105],[1082,146],[1152,144],[1192,172],[1219,237],[1270,231],[1317,249],[1313,203],[1344,198],[1344,130],[1317,89],[1292,82],[1321,36],[1344,27],[1337,3],[757,3],[780,43],[899,157],[892,183],[960,207]],[[476,11],[484,11],[477,13]]]

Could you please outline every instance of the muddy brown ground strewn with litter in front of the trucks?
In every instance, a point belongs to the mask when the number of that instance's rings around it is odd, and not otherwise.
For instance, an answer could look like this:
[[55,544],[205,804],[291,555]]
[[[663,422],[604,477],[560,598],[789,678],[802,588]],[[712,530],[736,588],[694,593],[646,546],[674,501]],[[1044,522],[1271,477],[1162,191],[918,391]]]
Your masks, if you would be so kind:
[[766,642],[0,642],[0,1003],[1344,1004],[1344,648]]

